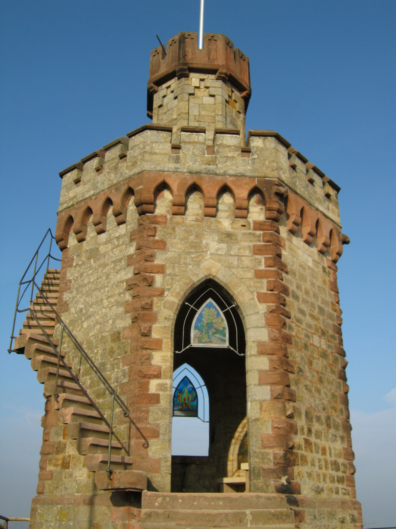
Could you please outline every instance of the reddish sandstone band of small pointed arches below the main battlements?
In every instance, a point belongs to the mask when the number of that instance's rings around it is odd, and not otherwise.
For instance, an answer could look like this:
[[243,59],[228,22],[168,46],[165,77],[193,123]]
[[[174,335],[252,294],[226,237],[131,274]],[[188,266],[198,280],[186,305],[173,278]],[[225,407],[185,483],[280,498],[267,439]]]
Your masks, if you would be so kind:
[[[286,188],[279,180],[272,178],[218,177],[207,175],[184,175],[143,171],[112,188],[90,197],[76,206],[59,214],[56,233],[61,249],[67,248],[69,225],[65,228],[69,216],[76,219],[73,227],[78,242],[85,240],[89,218],[98,234],[106,231],[106,220],[109,206],[116,223],[126,222],[129,200],[134,196],[134,204],[139,215],[154,213],[154,197],[160,186],[166,186],[172,194],[172,214],[184,215],[187,193],[195,187],[203,195],[204,216],[215,217],[219,193],[227,188],[234,199],[235,218],[247,218],[249,194],[257,189],[264,198],[266,220],[279,221],[281,214],[287,213],[287,229],[296,233],[301,225],[303,241],[312,243],[317,238],[317,249],[325,253],[331,248],[332,260],[336,262],[342,254],[342,244],[348,238],[342,235],[340,228],[334,225],[322,213],[293,191]],[[86,212],[88,212],[88,217]],[[85,216],[84,216],[85,215]],[[70,221],[69,221],[70,222]]]

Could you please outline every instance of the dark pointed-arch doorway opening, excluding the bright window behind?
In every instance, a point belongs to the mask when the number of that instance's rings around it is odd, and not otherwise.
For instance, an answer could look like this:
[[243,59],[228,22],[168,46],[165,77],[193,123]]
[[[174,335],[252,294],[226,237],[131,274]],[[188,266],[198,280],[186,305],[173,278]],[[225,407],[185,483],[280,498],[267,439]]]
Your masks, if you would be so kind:
[[228,461],[230,446],[247,413],[245,339],[238,306],[218,283],[205,281],[184,300],[174,336],[174,371],[188,364],[205,381],[210,422],[207,456],[172,456],[172,491],[216,492],[218,479],[234,468]]

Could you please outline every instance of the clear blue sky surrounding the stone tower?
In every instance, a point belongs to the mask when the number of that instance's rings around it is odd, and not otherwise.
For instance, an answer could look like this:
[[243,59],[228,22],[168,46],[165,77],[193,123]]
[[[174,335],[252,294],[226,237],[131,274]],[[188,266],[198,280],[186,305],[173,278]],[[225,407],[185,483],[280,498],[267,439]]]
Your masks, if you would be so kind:
[[[29,516],[44,400],[29,361],[6,352],[17,284],[55,227],[59,171],[149,121],[155,35],[197,31],[199,0],[3,0],[0,9],[0,513]],[[225,33],[250,58],[247,129],[278,131],[342,188],[357,496],[377,527],[396,525],[395,28],[394,1],[205,2],[205,32]]]

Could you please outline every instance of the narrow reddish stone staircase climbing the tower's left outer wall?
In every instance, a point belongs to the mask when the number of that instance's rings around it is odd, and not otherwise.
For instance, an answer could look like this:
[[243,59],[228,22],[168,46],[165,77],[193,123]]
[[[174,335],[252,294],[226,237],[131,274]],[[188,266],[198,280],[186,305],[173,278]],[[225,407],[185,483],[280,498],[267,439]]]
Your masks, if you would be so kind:
[[[55,315],[45,302],[43,295],[56,310],[59,293],[60,270],[49,269],[42,281],[31,311],[40,321],[52,344],[58,348],[58,340],[53,338]],[[77,440],[77,449],[84,455],[84,464],[88,470],[95,472],[95,483],[102,490],[142,490],[146,488],[147,476],[144,472],[132,470],[133,458],[125,455],[122,444],[111,442],[111,478],[107,476],[109,426],[103,420],[95,402],[89,398],[85,388],[79,382],[79,375],[73,372],[71,362],[65,360],[61,351],[58,373],[58,384],[55,388],[58,353],[30,312],[15,339],[14,350],[24,354],[31,361],[37,380],[44,384],[44,397],[52,400],[52,409],[58,412],[58,422],[67,425],[71,439]],[[110,396],[109,396],[110,398]]]

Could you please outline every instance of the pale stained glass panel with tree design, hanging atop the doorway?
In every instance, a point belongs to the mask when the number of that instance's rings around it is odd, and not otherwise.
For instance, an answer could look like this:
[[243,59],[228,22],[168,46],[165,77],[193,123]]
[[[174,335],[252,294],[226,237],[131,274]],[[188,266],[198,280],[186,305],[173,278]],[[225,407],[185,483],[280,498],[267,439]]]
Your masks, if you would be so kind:
[[227,322],[212,299],[208,299],[196,313],[191,327],[191,343],[200,346],[228,346]]

